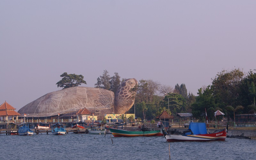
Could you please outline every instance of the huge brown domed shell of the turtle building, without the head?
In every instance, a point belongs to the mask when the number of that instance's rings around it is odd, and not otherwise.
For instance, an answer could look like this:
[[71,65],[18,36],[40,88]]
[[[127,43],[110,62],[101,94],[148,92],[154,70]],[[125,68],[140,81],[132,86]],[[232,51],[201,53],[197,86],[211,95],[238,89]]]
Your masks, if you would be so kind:
[[71,87],[47,93],[20,108],[18,113],[28,117],[44,117],[76,112],[84,107],[94,111],[99,105],[101,114],[104,114],[104,110],[114,113],[114,98],[114,92],[105,89]]

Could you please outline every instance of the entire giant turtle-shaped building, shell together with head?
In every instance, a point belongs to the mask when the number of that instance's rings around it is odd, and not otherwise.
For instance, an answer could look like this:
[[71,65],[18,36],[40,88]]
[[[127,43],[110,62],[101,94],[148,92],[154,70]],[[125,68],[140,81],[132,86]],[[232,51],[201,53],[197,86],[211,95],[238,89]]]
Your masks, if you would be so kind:
[[44,96],[20,108],[18,113],[28,117],[55,116],[77,112],[87,108],[92,113],[124,114],[134,104],[135,93],[131,89],[138,84],[135,78],[126,79],[114,92],[93,87],[70,87]]

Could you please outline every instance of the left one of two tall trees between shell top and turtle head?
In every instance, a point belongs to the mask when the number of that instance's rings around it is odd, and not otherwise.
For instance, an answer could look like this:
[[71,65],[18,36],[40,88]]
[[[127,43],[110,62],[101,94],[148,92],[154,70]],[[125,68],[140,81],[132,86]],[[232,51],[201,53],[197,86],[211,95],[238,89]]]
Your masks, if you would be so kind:
[[102,88],[102,89],[109,90],[110,89],[110,79],[111,78],[108,74],[108,71],[104,70],[102,76],[97,78],[97,83],[94,84],[95,88]]

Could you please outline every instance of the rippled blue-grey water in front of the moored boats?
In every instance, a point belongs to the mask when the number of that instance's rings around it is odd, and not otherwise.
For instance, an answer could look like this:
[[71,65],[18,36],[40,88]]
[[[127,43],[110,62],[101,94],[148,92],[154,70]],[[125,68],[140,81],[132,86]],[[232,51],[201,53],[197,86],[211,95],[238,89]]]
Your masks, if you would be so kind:
[[113,137],[110,134],[54,136],[0,135],[1,159],[255,159],[256,140],[166,142],[162,137]]

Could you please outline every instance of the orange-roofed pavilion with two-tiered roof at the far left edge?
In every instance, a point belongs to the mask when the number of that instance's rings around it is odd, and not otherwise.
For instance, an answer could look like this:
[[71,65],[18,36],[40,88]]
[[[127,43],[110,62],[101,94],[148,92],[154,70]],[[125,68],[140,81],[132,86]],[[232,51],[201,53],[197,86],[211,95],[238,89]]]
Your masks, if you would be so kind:
[[12,117],[12,121],[14,121],[14,116],[16,116],[16,121],[18,121],[18,116],[20,114],[14,111],[16,108],[13,108],[9,103],[6,101],[0,106],[0,116],[2,117],[3,121],[9,121],[9,118]]

